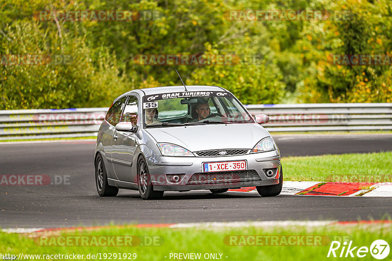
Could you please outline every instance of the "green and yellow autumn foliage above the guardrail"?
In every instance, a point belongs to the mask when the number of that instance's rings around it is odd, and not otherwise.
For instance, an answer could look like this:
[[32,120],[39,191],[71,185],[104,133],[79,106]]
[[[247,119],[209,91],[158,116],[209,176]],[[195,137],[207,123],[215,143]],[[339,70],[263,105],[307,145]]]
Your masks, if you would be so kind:
[[[349,11],[347,20],[229,21],[228,10]],[[154,21],[36,21],[39,10],[154,10]],[[392,50],[390,0],[0,0],[0,54],[68,54],[67,65],[0,65],[0,109],[106,107],[125,91],[180,85],[137,54],[256,54],[261,64],[177,65],[188,85],[244,104],[391,102],[392,67],[333,65],[331,54]]]

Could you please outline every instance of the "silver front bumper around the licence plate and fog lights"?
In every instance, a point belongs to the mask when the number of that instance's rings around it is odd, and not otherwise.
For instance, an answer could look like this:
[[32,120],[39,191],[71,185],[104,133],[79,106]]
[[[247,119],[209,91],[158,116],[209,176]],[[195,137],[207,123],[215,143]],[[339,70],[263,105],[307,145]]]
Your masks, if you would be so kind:
[[[154,190],[157,191],[188,191],[198,189],[223,189],[240,188],[251,186],[267,186],[279,183],[280,175],[280,155],[279,151],[251,153],[235,156],[218,157],[168,157],[150,156],[147,157],[147,165]],[[193,174],[204,174],[203,163],[246,160],[247,170],[257,173],[257,180],[209,180],[200,184],[189,184]],[[271,177],[265,173],[266,169],[274,169],[275,174]],[[224,172],[221,172],[224,173]],[[219,174],[221,174],[219,173]],[[178,182],[171,182],[167,174],[180,174]],[[215,173],[206,173],[218,174]]]

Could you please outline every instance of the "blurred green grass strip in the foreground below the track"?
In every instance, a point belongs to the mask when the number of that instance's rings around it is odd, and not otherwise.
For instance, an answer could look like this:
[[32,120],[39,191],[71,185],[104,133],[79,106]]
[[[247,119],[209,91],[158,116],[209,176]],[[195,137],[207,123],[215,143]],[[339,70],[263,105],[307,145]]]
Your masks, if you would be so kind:
[[[81,236],[87,236],[86,245],[73,246],[75,238]],[[134,245],[97,246],[94,243],[99,244],[99,239],[109,236],[115,236],[118,239],[132,237]],[[60,237],[64,240],[60,240]],[[97,240],[94,241],[94,238]],[[113,260],[121,260],[124,259],[124,253],[129,253],[126,254],[127,260],[128,257],[132,257],[132,254],[136,254],[136,260],[148,261],[174,260],[173,257],[170,258],[173,253],[200,253],[200,260],[206,260],[204,255],[211,257],[211,254],[216,254],[216,257],[220,257],[221,254],[221,259],[227,261],[260,260],[261,257],[265,261],[297,261],[309,258],[330,260],[327,254],[333,240],[341,242],[342,246],[343,241],[352,240],[353,246],[369,248],[376,239],[392,242],[391,223],[355,226],[329,225],[314,228],[248,226],[173,229],[111,226],[93,231],[68,231],[60,234],[56,232],[55,234],[18,235],[0,232],[0,253],[16,256],[20,253],[30,255],[79,254],[84,257],[88,254],[90,256],[100,254],[102,260],[108,260],[109,254]],[[52,246],[46,246],[48,242],[52,242]],[[65,245],[59,245],[62,242],[65,242]],[[342,247],[337,252],[338,255],[340,250]],[[104,258],[105,254],[106,258]],[[114,254],[117,254],[116,258]],[[30,260],[38,259],[30,258]],[[84,258],[84,260],[88,259]],[[367,257],[361,260],[373,260],[373,258],[368,253]]]

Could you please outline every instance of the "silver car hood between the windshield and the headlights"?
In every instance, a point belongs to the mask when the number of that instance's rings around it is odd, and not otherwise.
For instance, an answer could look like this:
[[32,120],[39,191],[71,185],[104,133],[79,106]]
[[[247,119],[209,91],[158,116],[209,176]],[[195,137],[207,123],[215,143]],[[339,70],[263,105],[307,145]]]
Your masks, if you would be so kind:
[[219,149],[252,149],[268,131],[256,123],[211,124],[149,128],[157,142],[179,145],[191,152]]

